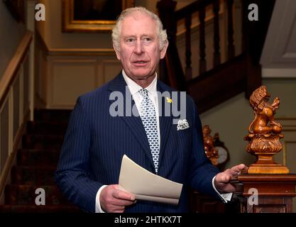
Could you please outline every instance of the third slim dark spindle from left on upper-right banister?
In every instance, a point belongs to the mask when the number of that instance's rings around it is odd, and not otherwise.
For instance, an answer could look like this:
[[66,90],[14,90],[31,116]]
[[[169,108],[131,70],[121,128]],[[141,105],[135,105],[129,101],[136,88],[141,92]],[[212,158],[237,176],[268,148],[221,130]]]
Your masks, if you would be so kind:
[[219,0],[214,1],[213,12],[214,12],[214,67],[220,64],[221,54],[220,54],[220,34],[219,34],[219,10],[220,2]]

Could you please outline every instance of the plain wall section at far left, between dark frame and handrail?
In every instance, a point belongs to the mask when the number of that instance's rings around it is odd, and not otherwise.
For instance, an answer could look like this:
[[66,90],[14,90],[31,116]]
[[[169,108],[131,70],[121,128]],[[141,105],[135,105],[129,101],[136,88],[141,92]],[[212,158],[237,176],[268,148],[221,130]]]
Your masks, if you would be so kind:
[[4,2],[0,1],[0,79],[25,31],[25,26],[18,23],[11,16]]

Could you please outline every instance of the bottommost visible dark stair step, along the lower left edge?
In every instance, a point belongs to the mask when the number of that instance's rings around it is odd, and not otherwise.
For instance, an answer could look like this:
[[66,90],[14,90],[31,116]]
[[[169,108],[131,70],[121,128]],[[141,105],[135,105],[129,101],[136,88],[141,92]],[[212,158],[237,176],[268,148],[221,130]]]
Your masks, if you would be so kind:
[[0,213],[80,213],[74,205],[3,205]]

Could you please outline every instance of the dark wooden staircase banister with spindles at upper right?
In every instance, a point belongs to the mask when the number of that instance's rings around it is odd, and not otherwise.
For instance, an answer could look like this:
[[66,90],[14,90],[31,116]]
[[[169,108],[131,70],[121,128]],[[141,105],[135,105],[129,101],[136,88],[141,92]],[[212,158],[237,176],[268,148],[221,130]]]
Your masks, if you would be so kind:
[[[227,18],[226,61],[221,62],[221,28],[219,23],[220,6],[224,4]],[[172,0],[158,1],[160,19],[168,33],[169,47],[167,55],[160,62],[160,79],[180,91],[186,91],[196,102],[199,114],[221,104],[231,97],[245,92],[248,97],[261,86],[261,65],[259,64],[261,52],[268,25],[273,12],[275,0],[243,0],[241,1],[241,31],[234,29],[234,0],[198,0],[188,6],[175,11],[177,2]],[[259,12],[258,21],[248,21],[249,4],[257,4]],[[213,43],[206,46],[205,18],[206,13],[212,10]],[[264,9],[264,10],[263,10]],[[195,13],[195,14],[194,14]],[[198,13],[199,26],[199,52],[192,50],[192,18]],[[176,45],[177,26],[185,23],[185,56],[180,56]],[[234,33],[241,33],[241,53],[236,54]],[[223,34],[223,33],[222,33]],[[207,70],[206,48],[212,48],[212,69]],[[199,62],[192,63],[192,55],[199,55]],[[185,57],[185,67],[182,67],[181,57]],[[199,65],[199,74],[192,75],[192,64]]]

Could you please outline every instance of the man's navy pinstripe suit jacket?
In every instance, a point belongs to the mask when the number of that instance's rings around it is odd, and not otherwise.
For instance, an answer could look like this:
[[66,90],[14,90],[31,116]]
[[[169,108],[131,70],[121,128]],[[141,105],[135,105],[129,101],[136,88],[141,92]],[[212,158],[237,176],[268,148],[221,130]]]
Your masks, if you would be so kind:
[[[104,184],[118,184],[121,159],[131,160],[154,172],[153,160],[140,117],[109,114],[111,92],[126,96],[126,82],[120,73],[111,82],[77,99],[55,172],[55,182],[67,199],[84,211],[95,211],[96,194]],[[160,92],[172,88],[158,81]],[[133,101],[131,102],[133,105]],[[159,108],[164,108],[163,100]],[[124,99],[124,108],[131,106]],[[219,172],[204,154],[202,126],[197,109],[186,96],[186,118],[190,125],[177,131],[173,116],[160,116],[160,157],[158,175],[183,184],[177,206],[137,201],[126,212],[186,212],[187,187],[219,198],[212,178]],[[149,187],[149,185],[147,185]]]

